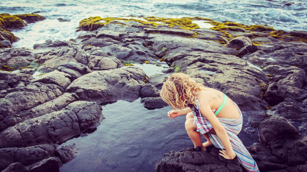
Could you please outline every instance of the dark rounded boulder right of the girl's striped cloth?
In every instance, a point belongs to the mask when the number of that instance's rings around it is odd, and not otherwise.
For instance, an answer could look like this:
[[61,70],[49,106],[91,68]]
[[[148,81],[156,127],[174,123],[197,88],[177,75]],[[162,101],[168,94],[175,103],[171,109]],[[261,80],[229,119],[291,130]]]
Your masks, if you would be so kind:
[[258,126],[260,141],[271,143],[280,137],[297,136],[298,130],[285,118],[271,116],[263,120]]

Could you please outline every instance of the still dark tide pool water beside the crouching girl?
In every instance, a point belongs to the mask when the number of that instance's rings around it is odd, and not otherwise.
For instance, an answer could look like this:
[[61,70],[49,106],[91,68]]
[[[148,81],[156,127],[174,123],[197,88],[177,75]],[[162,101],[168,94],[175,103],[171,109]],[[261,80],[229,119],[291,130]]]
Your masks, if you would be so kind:
[[[148,110],[140,99],[103,106],[106,119],[95,132],[81,134],[60,145],[78,146],[77,156],[60,167],[60,172],[154,171],[155,163],[165,153],[193,147],[185,131],[185,116],[169,119],[169,110],[172,110],[169,106]],[[243,112],[243,128],[248,121],[245,115]],[[258,142],[258,134],[251,137],[243,129],[239,138],[245,146]]]

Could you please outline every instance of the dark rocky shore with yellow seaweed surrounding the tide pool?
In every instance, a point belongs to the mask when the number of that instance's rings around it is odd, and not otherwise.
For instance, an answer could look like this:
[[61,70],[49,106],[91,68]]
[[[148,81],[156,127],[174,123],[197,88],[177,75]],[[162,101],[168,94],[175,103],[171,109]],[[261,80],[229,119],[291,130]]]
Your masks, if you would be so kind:
[[[174,72],[224,92],[249,115],[259,142],[248,150],[261,172],[307,171],[306,31],[144,18],[90,17],[76,39],[0,49],[0,171],[59,171],[77,148],[58,144],[96,128],[105,118],[100,103],[141,97],[146,108],[167,106],[159,89]],[[133,65],[161,62],[170,68],[150,77]],[[165,152],[155,170],[244,171],[217,151]]]

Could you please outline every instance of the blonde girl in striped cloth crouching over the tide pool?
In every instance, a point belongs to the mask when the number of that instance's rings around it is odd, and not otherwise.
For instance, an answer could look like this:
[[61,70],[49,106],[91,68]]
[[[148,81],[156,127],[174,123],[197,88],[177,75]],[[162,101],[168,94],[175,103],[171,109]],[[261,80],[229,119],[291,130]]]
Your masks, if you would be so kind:
[[[237,156],[247,171],[259,171],[237,137],[242,129],[241,111],[224,93],[196,83],[184,73],[175,73],[167,77],[160,95],[174,109],[168,112],[169,118],[186,115],[185,129],[195,148],[206,151],[213,144],[222,149],[220,155],[225,159]],[[199,133],[207,142],[202,143]]]

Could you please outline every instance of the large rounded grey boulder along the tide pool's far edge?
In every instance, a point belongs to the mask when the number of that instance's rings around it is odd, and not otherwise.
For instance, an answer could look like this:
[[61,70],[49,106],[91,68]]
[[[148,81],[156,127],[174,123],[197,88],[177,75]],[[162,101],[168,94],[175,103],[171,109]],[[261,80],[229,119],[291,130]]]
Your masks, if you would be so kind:
[[146,79],[144,71],[135,66],[88,73],[72,82],[66,91],[76,93],[80,99],[114,102],[119,99],[134,101]]

